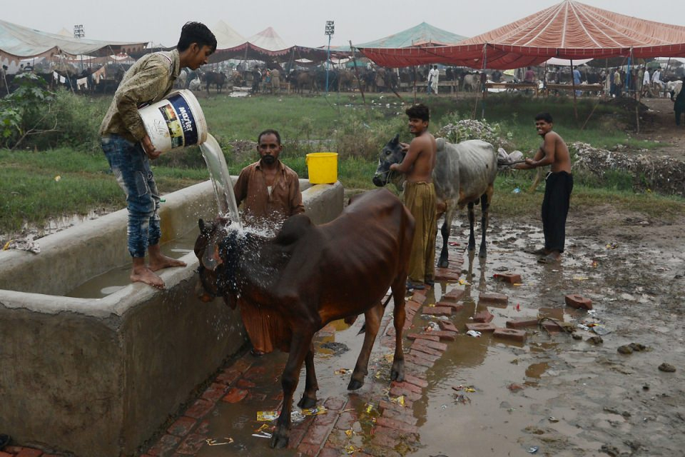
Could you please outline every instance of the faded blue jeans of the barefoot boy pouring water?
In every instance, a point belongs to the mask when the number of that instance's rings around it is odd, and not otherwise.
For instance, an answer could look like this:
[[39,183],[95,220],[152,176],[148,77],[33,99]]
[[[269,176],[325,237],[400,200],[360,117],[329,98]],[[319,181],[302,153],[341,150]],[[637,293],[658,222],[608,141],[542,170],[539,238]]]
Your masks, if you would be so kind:
[[102,150],[126,194],[128,209],[128,252],[132,257],[145,257],[148,246],[159,243],[159,192],[150,161],[140,143],[110,134],[101,138]]

